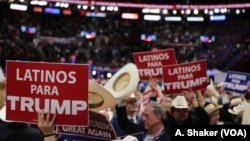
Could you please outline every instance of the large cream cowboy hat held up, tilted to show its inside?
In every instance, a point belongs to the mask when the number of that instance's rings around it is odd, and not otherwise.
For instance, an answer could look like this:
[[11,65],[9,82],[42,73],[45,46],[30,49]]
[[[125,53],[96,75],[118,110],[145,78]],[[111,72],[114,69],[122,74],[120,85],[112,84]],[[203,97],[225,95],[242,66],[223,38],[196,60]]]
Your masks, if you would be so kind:
[[116,100],[122,100],[136,90],[138,83],[138,69],[135,64],[128,63],[104,84],[104,88],[106,88]]

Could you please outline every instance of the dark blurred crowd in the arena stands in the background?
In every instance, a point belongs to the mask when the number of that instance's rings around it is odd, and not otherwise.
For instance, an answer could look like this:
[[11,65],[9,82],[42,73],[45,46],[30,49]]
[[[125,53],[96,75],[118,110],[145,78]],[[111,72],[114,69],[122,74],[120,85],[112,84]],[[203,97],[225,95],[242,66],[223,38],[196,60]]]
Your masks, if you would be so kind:
[[[236,70],[249,62],[249,19],[224,22],[165,22],[51,15],[33,12],[0,12],[0,64],[5,60],[88,63],[116,71],[133,62],[133,52],[152,48],[174,48],[178,63],[206,59],[208,69]],[[21,26],[36,27],[35,34],[21,32]],[[96,32],[94,39],[80,36],[83,30]],[[141,41],[142,33],[155,34],[154,42]],[[201,35],[214,36],[202,43]]]

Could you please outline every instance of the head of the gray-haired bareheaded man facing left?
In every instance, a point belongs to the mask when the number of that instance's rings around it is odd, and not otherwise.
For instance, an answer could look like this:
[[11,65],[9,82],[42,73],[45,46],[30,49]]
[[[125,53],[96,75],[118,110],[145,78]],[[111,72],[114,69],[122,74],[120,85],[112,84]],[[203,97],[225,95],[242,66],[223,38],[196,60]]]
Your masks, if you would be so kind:
[[158,125],[163,125],[163,120],[166,120],[166,111],[159,103],[150,101],[145,105],[142,117],[145,129],[152,130]]

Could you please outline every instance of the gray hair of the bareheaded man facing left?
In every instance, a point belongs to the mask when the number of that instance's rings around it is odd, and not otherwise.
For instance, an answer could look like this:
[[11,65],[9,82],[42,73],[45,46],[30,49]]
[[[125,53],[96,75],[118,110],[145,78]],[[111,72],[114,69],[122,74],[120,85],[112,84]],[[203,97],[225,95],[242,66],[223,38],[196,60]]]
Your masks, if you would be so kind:
[[150,101],[147,105],[150,105],[153,107],[153,113],[155,115],[160,115],[162,120],[166,120],[166,110],[163,107],[163,105],[157,103],[156,101]]

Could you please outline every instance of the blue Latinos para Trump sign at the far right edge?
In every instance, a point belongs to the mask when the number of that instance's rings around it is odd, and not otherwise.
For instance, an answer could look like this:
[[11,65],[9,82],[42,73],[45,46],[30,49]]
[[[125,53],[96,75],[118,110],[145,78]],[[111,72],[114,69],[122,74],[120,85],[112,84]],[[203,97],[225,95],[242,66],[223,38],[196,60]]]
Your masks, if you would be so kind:
[[224,90],[238,94],[246,94],[249,80],[249,73],[228,71],[224,82]]

